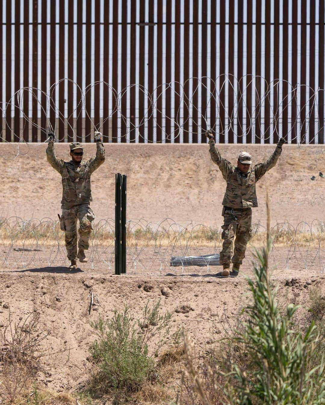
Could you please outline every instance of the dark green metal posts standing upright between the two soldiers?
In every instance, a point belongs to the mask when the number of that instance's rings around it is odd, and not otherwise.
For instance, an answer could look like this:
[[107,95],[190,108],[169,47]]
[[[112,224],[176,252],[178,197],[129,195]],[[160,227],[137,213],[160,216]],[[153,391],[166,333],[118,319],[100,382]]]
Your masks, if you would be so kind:
[[126,181],[115,175],[115,274],[126,273]]

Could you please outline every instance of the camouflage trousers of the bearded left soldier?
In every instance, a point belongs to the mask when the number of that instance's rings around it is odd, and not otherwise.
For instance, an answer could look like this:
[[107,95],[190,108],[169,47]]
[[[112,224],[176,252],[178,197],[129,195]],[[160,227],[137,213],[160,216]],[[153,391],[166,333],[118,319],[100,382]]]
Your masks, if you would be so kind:
[[89,204],[75,205],[70,209],[62,209],[60,220],[61,230],[65,231],[65,247],[69,260],[77,257],[77,220],[79,220],[79,249],[87,250],[89,247],[89,237],[92,230],[92,222],[95,214]]

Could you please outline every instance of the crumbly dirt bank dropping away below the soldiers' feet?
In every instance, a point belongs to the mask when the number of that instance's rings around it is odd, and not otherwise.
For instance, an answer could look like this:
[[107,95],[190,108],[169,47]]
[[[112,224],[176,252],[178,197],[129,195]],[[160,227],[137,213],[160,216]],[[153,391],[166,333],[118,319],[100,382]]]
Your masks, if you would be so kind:
[[[283,303],[301,303],[308,308],[311,288],[325,292],[325,276],[316,273],[312,277],[303,277],[301,273],[299,277],[296,273],[273,280],[280,287],[278,298]],[[144,288],[149,285],[150,289]],[[200,353],[211,336],[219,338],[229,325],[235,324],[239,310],[251,299],[243,277],[213,276],[103,277],[91,273],[17,271],[0,273],[0,291],[0,325],[8,324],[9,311],[14,323],[33,310],[40,313],[41,329],[48,333],[48,356],[44,358],[45,371],[39,374],[39,381],[59,392],[81,390],[87,383],[92,369],[89,345],[95,340],[90,321],[109,319],[114,309],[122,310],[127,304],[129,313],[138,319],[146,303],[153,306],[161,299],[161,313],[172,313],[169,343],[172,334],[184,326]]]

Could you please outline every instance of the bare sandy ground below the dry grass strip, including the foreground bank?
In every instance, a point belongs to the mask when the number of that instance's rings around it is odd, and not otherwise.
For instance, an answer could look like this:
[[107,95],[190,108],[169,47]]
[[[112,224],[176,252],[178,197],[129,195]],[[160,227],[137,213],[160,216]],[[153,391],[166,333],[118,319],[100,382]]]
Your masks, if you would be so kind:
[[[44,358],[45,369],[39,381],[49,388],[80,391],[87,385],[92,369],[89,345],[95,339],[90,321],[108,319],[114,309],[128,305],[134,319],[140,319],[146,303],[151,306],[161,299],[161,313],[172,313],[166,346],[172,344],[174,332],[185,328],[201,356],[207,342],[228,333],[237,322],[239,309],[250,302],[245,276],[253,276],[252,248],[247,251],[240,275],[228,279],[221,277],[220,266],[172,267],[168,258],[181,254],[179,249],[162,249],[155,256],[149,247],[141,249],[136,262],[130,250],[127,274],[118,276],[114,275],[114,263],[108,266],[109,260],[114,260],[113,252],[112,248],[90,251],[93,262],[80,264],[75,271],[67,268],[62,247],[56,251],[12,252],[8,260],[15,259],[17,265],[0,269],[0,328],[8,324],[9,311],[13,323],[24,320],[34,309],[40,313],[39,327],[48,333],[44,347],[49,355]],[[201,254],[207,252],[209,248],[200,247]],[[325,249],[277,246],[269,262],[271,279],[279,286],[278,299],[282,305],[300,304],[305,322],[310,289],[325,292]],[[147,291],[145,286],[149,286]],[[162,295],[163,290],[168,291],[168,297]],[[90,292],[100,305],[90,307]],[[176,313],[182,305],[192,309]]]

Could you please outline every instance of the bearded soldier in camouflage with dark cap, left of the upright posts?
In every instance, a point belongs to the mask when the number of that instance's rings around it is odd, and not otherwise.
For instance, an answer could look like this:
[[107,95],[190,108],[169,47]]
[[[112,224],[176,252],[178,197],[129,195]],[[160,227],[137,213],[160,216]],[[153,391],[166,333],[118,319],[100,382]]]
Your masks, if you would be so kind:
[[[56,157],[54,150],[53,133],[49,134],[49,144],[46,149],[47,161],[62,176],[62,216],[60,228],[65,231],[65,246],[68,259],[71,261],[70,268],[77,266],[76,258],[86,263],[88,259],[85,250],[89,247],[89,237],[92,230],[92,222],[95,215],[90,208],[93,200],[90,189],[91,174],[103,164],[105,149],[101,142],[101,133],[95,132],[97,153],[95,158],[82,162],[84,147],[80,142],[70,143],[70,162],[65,162]],[[79,243],[77,252],[77,219],[79,219]]]

